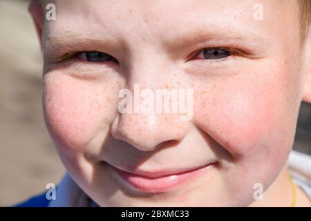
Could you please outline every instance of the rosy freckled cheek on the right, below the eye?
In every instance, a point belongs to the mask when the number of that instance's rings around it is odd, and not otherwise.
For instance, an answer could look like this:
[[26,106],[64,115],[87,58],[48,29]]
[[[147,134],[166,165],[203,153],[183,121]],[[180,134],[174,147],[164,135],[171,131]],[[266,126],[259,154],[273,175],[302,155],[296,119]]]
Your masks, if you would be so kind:
[[273,86],[254,85],[224,86],[195,101],[196,122],[233,155],[247,155],[282,140],[285,125],[277,111],[278,93]]

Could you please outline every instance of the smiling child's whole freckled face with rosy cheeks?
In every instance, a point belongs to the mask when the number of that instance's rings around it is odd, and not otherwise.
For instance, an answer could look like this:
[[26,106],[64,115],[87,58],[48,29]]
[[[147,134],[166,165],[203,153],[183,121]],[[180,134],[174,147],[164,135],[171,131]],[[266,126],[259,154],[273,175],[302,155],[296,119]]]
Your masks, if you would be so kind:
[[[256,3],[263,20],[254,19]],[[254,184],[270,186],[292,148],[303,96],[296,1],[55,5],[43,37],[46,123],[66,169],[95,202],[245,206]],[[63,57],[87,51],[117,62]],[[121,114],[118,93],[134,84],[192,88],[193,117]],[[150,177],[212,165],[181,183],[176,176],[172,187],[174,177],[126,181],[109,164]]]

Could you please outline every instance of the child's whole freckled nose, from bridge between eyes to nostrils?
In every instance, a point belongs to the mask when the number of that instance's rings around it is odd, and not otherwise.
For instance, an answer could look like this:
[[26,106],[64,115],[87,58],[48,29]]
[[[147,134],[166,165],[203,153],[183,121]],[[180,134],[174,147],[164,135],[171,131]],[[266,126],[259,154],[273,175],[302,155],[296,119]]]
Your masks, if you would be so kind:
[[[158,89],[162,90],[162,86],[172,82],[167,77],[169,73],[159,73],[169,71],[161,68],[160,59],[136,59],[139,61],[133,61],[135,66],[131,66],[126,84],[131,91],[131,104],[126,108],[131,107],[131,111],[119,112],[111,133],[115,139],[123,140],[140,151],[152,151],[164,142],[182,140],[189,122],[180,120],[178,113],[164,113],[162,100],[161,103],[157,100]],[[159,105],[160,111],[157,111]]]

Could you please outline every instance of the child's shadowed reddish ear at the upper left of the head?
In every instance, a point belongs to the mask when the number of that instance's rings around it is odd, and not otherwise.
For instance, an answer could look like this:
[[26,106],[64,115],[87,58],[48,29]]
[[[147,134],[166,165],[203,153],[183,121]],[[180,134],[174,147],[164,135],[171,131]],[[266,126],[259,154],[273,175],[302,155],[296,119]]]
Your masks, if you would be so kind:
[[29,3],[28,11],[32,16],[35,23],[35,28],[39,37],[40,45],[42,43],[42,29],[44,26],[44,12],[41,7],[41,3],[38,0],[32,0]]

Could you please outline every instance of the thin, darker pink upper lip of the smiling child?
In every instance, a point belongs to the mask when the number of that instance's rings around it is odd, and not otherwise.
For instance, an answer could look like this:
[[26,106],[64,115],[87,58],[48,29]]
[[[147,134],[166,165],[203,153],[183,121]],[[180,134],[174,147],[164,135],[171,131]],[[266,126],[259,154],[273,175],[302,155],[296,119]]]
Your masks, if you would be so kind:
[[156,178],[160,178],[160,177],[167,177],[170,175],[178,175],[178,174],[182,174],[182,173],[189,173],[191,171],[196,171],[198,169],[202,169],[206,166],[209,166],[213,163],[209,163],[209,164],[205,164],[203,166],[196,166],[196,167],[192,167],[192,168],[183,168],[183,169],[164,169],[164,170],[158,170],[158,171],[144,171],[141,169],[135,169],[135,170],[131,170],[122,166],[113,166],[115,169],[118,169],[119,171],[124,171],[126,173],[131,173],[132,175],[138,175],[141,177],[146,177],[149,179],[156,179]]

